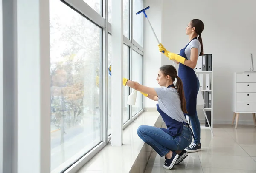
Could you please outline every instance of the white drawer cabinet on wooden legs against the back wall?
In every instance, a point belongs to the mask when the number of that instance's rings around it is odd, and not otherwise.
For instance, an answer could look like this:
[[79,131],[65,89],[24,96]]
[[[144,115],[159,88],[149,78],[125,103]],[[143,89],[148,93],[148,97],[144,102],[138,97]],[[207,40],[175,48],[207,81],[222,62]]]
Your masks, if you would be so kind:
[[233,121],[236,128],[240,113],[252,113],[256,126],[256,73],[235,73],[233,78]]

